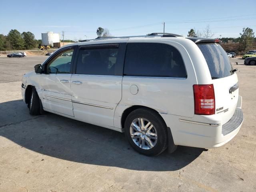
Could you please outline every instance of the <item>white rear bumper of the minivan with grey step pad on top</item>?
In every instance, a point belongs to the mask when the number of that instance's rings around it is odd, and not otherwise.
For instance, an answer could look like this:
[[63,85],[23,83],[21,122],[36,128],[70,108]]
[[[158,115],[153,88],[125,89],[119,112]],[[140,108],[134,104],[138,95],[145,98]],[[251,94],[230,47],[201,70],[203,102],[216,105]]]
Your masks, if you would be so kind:
[[226,144],[239,132],[244,120],[241,106],[242,97],[239,96],[234,115],[223,125],[214,119],[209,119],[209,122],[196,122],[183,120],[179,116],[167,114],[161,114],[161,116],[171,129],[175,145],[215,148]]

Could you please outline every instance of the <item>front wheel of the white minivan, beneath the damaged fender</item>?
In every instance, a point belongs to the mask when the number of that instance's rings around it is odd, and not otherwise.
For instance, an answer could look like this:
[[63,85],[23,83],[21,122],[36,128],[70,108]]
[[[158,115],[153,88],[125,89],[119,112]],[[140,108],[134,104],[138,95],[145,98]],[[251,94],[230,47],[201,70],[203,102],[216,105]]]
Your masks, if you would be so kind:
[[40,115],[40,99],[34,87],[32,88],[28,108],[31,115]]

